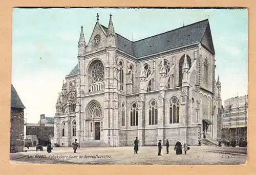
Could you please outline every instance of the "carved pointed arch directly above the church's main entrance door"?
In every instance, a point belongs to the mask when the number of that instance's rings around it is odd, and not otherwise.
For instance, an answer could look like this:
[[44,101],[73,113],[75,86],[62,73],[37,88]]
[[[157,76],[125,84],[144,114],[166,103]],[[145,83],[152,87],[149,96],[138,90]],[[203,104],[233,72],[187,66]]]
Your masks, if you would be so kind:
[[103,118],[102,107],[95,99],[88,103],[86,111],[86,118]]

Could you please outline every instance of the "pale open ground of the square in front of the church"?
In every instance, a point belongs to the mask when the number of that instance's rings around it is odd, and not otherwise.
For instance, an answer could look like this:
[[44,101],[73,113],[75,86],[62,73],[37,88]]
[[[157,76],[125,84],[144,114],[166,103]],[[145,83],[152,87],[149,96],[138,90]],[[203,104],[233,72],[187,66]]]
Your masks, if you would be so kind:
[[238,165],[247,160],[247,148],[190,146],[184,155],[176,155],[174,147],[165,147],[162,156],[157,156],[157,146],[139,147],[133,154],[133,147],[82,147],[73,153],[72,147],[54,147],[52,153],[36,152],[30,147],[27,152],[10,154],[14,164],[145,164],[145,165]]

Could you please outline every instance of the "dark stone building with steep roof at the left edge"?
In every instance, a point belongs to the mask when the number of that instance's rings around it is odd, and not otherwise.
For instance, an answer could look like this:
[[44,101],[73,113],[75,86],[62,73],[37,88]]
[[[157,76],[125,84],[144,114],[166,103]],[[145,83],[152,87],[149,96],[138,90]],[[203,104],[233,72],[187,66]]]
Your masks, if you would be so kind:
[[10,153],[24,151],[24,109],[18,93],[11,85]]

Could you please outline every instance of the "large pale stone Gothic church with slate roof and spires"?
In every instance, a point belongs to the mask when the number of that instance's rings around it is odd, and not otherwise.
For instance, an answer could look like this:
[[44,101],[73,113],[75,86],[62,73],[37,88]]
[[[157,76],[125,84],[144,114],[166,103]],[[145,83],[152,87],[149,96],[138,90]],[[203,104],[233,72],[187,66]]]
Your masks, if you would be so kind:
[[[138,41],[117,34],[97,14],[90,40],[83,27],[77,65],[56,103],[54,143],[72,146],[217,143],[221,84],[209,20]],[[89,36],[88,36],[89,37]]]

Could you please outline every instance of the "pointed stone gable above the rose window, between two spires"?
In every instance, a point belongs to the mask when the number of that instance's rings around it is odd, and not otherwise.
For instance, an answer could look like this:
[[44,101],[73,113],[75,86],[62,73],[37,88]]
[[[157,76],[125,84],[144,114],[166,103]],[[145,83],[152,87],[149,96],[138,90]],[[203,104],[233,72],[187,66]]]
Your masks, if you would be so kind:
[[[98,44],[95,44],[94,42],[94,38],[96,35],[100,36],[100,40]],[[93,49],[104,47],[105,44],[106,44],[106,32],[103,30],[99,22],[96,22],[92,35],[90,37],[90,40],[87,44],[86,50],[87,52],[89,52],[89,51],[92,51]]]

